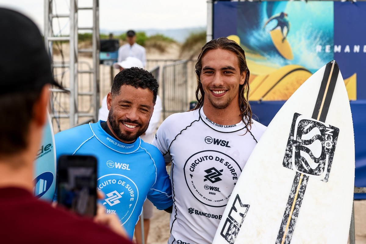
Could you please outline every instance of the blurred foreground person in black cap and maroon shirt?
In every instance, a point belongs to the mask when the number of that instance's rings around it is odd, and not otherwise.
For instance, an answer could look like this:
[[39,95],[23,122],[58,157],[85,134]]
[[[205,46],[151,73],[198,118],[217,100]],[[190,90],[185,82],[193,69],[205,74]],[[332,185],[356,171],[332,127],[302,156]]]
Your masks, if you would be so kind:
[[[29,18],[0,8],[0,33],[2,243],[130,244],[115,215],[99,209],[93,222],[32,195],[49,88],[62,87],[53,80],[41,33]],[[27,65],[19,67],[20,60],[27,60]]]

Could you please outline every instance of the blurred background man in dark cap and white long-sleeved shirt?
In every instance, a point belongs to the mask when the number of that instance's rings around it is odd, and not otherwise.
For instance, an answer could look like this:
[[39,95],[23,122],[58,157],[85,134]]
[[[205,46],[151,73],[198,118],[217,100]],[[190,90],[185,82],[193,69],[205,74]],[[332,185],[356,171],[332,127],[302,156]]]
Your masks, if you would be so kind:
[[129,30],[126,33],[127,42],[118,49],[118,62],[122,62],[127,57],[135,57],[141,60],[143,67],[146,66],[146,50],[136,43],[136,33]]

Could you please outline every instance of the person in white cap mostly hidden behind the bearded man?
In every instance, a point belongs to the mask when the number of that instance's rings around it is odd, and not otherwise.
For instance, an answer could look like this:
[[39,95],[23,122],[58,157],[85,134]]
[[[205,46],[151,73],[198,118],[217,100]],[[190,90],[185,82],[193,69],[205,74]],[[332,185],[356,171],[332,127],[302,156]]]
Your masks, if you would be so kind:
[[[135,57],[127,57],[122,62],[113,64],[113,68],[119,69],[120,71],[124,70],[125,68],[127,69],[127,68],[131,68],[131,67],[142,68],[143,65],[142,65],[142,62]],[[150,119],[149,127],[147,127],[147,130],[145,131],[145,133],[140,136],[140,138],[144,142],[151,143],[153,141],[154,134],[155,134],[155,131],[157,129],[157,126],[158,126],[158,123],[160,120],[161,110],[162,110],[161,98],[159,97],[159,95],[157,95],[156,102],[154,105],[154,111],[153,111],[153,115],[151,116],[151,119]],[[102,99],[102,106],[99,109],[98,120],[107,121],[108,113],[109,113],[109,110],[107,108],[107,96],[105,96]],[[148,199],[146,199],[145,203],[143,203],[142,208],[143,208],[143,227],[145,230],[144,236],[145,236],[145,243],[146,243],[147,236],[148,236],[149,229],[150,229],[150,219],[153,217],[153,204]],[[137,244],[142,243],[140,221],[141,220],[139,220],[137,222],[136,227],[135,227],[135,237],[136,237]]]

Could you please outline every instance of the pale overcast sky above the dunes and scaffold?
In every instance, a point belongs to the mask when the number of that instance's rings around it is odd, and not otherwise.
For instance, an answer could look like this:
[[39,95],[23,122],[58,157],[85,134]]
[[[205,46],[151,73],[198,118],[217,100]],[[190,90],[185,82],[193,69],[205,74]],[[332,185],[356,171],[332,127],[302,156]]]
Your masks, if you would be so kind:
[[[70,0],[53,0],[54,12],[69,12]],[[92,0],[79,0],[79,7],[90,6]],[[0,0],[1,7],[9,7],[29,16],[44,29],[44,0]],[[179,29],[201,27],[207,23],[206,0],[100,0],[99,26],[107,30]],[[79,11],[79,26],[91,26],[91,11]],[[55,27],[69,29],[66,19],[54,22]],[[57,30],[56,30],[57,31]]]

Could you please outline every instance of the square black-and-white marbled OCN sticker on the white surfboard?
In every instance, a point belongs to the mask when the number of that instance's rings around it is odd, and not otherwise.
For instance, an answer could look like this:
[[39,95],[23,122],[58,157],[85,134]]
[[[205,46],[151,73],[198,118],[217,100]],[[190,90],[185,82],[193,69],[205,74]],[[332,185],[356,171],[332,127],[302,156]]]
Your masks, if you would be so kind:
[[294,114],[283,166],[328,181],[339,129]]

